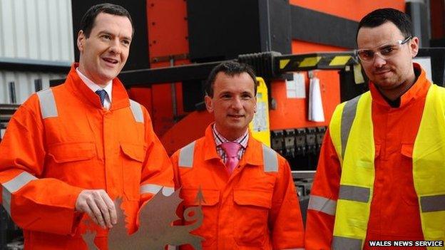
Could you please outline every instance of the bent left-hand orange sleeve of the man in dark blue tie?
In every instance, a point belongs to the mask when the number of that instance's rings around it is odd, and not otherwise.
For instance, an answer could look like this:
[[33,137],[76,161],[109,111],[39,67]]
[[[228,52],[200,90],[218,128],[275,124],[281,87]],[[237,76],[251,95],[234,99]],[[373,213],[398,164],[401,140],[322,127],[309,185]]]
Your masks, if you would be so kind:
[[58,179],[41,178],[46,147],[38,100],[33,95],[9,121],[0,143],[2,205],[25,230],[71,234],[77,222],[81,189]]

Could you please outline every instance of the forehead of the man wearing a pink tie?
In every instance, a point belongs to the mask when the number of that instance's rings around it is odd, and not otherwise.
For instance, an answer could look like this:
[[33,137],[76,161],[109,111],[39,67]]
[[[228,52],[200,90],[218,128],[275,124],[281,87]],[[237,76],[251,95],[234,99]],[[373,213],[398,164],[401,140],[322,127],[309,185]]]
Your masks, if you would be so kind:
[[227,75],[220,72],[216,75],[213,92],[254,92],[255,83],[248,73]]

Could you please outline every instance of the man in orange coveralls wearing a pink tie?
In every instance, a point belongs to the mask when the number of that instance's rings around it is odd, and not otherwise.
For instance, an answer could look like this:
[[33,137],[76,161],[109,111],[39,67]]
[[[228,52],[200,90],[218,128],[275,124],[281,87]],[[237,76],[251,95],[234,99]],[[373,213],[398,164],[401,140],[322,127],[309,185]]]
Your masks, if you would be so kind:
[[[256,109],[256,85],[247,65],[216,66],[205,96],[215,123],[204,137],[171,157],[184,207],[203,206],[203,224],[193,231],[205,239],[203,249],[303,246],[300,204],[289,164],[247,129]],[[199,191],[202,200],[197,199]]]

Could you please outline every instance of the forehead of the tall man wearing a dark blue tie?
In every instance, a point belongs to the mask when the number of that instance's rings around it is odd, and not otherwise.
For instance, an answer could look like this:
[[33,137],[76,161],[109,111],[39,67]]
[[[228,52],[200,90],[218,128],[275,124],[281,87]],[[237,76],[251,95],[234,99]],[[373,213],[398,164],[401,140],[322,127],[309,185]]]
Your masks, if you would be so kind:
[[126,16],[116,16],[101,12],[96,16],[96,19],[94,19],[91,33],[99,33],[103,31],[131,37],[133,26],[131,26],[131,21]]

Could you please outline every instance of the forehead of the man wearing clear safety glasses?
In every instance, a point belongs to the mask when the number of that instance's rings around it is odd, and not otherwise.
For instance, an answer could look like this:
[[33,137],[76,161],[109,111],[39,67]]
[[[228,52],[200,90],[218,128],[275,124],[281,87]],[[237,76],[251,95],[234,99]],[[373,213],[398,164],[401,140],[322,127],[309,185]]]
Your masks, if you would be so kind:
[[375,48],[382,46],[385,43],[404,39],[403,34],[395,24],[390,21],[386,23],[369,28],[362,27],[357,33],[357,47],[358,48]]

